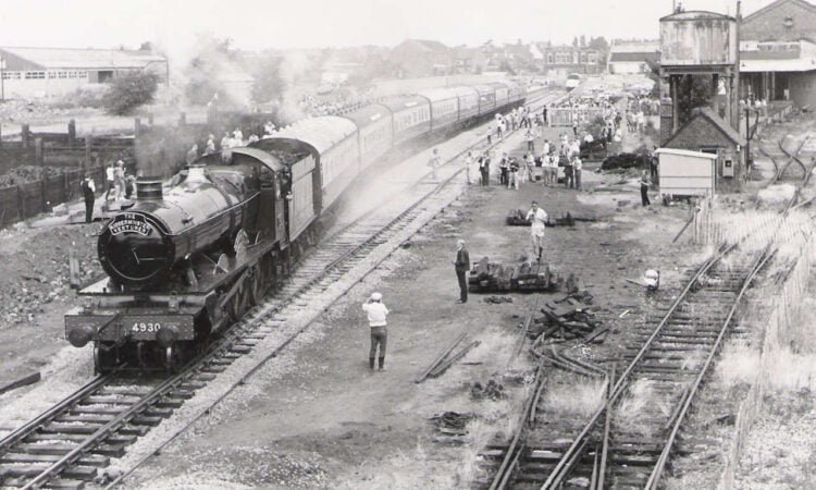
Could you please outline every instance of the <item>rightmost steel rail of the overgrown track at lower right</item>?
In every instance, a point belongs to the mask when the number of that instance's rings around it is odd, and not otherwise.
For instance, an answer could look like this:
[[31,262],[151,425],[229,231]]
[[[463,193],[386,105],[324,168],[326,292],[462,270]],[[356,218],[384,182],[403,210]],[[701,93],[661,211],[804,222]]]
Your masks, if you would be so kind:
[[733,318],[734,314],[737,313],[737,308],[740,306],[740,303],[742,301],[742,297],[745,295],[745,292],[751,286],[752,281],[756,277],[756,274],[762,270],[763,267],[770,260],[770,258],[774,256],[769,252],[769,248],[766,248],[765,252],[757,258],[757,260],[754,262],[750,274],[745,279],[745,281],[742,284],[742,287],[740,289],[739,294],[733,301],[733,304],[731,305],[731,309],[728,313],[728,316],[726,317],[725,321],[722,322],[722,327],[720,328],[719,334],[717,335],[717,340],[715,341],[714,345],[710,348],[710,352],[708,353],[708,357],[706,358],[705,364],[703,365],[702,369],[700,370],[700,373],[697,375],[696,379],[694,380],[694,383],[691,385],[691,389],[689,390],[688,395],[685,396],[685,401],[682,404],[682,407],[680,408],[680,412],[677,415],[677,419],[675,421],[675,425],[671,429],[671,432],[669,433],[668,441],[666,442],[666,445],[663,449],[663,452],[660,452],[660,457],[657,460],[657,463],[652,470],[652,474],[648,477],[648,480],[646,481],[646,488],[647,489],[655,489],[657,488],[657,482],[660,479],[660,476],[663,475],[663,470],[666,466],[666,462],[668,462],[669,453],[671,452],[671,449],[675,444],[675,440],[677,439],[677,434],[680,431],[680,425],[683,421],[683,418],[685,417],[685,414],[689,411],[689,407],[691,406],[692,401],[694,400],[694,394],[700,389],[700,385],[703,382],[703,378],[705,377],[706,372],[708,371],[708,368],[712,365],[712,362],[714,360],[714,356],[719,351],[720,345],[722,344],[722,340],[725,339],[726,333],[728,332],[728,327],[731,323],[731,319]]

